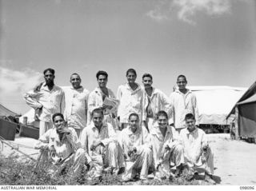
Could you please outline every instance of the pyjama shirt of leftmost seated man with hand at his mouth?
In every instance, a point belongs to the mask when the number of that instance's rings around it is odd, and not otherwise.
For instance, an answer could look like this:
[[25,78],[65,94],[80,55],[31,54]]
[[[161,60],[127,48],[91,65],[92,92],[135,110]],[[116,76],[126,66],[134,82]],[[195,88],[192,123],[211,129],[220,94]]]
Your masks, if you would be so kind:
[[[61,160],[70,157],[70,155],[75,153],[82,145],[74,129],[70,127],[68,129],[70,129],[71,132],[69,134],[64,133],[62,140],[60,140],[56,128],[49,129],[39,137],[38,143],[34,146],[35,149],[48,149],[54,146],[56,157]],[[87,159],[90,160],[90,157],[87,157]]]

